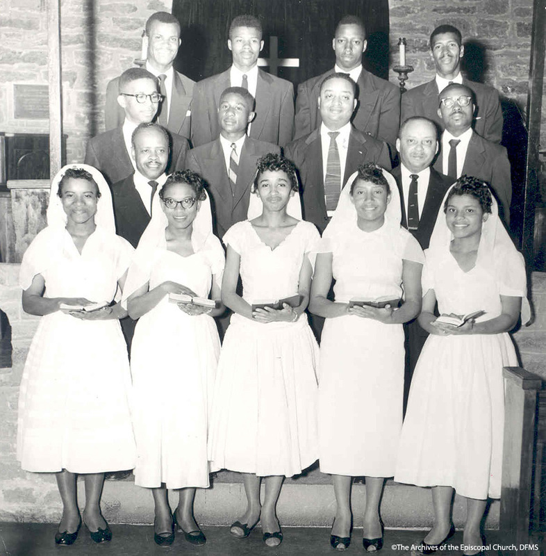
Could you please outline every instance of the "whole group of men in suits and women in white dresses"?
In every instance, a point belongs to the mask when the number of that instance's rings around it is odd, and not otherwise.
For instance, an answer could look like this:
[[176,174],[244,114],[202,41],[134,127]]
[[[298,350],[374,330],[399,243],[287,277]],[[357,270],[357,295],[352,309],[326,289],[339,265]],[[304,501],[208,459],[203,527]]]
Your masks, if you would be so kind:
[[333,548],[349,547],[363,476],[363,547],[381,549],[395,477],[433,487],[424,554],[454,532],[454,489],[468,500],[464,554],[479,554],[486,500],[500,495],[508,332],[528,304],[504,227],[499,99],[461,77],[461,33],[433,31],[437,75],[404,94],[402,125],[397,88],[362,67],[354,16],[295,111],[292,85],[256,65],[256,17],[235,17],[232,67],[199,83],[172,66],[172,15],[152,15],[146,33],[146,67],[108,84],[111,129],[53,179],[47,228],[22,261],[24,311],[43,318],[17,457],[56,473],[56,543],[74,543],[82,523],[109,541],[104,473],[134,469],[154,498],[156,543],[179,531],[204,544],[195,489],[229,469],[247,495],[231,534],[260,522],[278,546],[283,478],[318,459],[336,496]]

